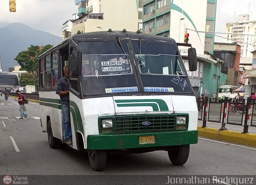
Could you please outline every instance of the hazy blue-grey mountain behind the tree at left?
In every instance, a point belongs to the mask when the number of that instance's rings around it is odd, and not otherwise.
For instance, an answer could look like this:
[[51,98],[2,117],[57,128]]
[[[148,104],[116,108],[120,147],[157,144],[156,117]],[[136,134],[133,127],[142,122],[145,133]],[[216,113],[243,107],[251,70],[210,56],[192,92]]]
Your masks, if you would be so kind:
[[18,65],[14,60],[19,52],[27,50],[30,45],[57,45],[62,38],[47,32],[35,30],[22,23],[6,24],[0,28],[0,59],[3,71]]

